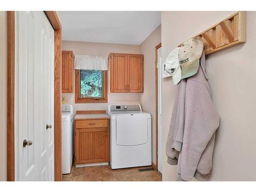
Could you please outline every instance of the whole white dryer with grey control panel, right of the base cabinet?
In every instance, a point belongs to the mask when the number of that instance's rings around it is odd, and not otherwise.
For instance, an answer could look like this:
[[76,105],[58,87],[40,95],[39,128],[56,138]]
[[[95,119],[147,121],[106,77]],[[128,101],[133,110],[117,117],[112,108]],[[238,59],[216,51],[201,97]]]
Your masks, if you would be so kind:
[[111,168],[151,165],[151,115],[140,104],[111,104],[108,115]]

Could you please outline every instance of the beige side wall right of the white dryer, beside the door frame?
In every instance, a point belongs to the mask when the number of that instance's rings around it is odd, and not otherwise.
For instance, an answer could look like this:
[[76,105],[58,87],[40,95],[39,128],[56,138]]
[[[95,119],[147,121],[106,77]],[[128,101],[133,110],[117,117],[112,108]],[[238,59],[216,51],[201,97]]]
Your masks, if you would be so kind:
[[156,163],[156,46],[161,42],[161,25],[155,29],[140,45],[140,54],[144,55],[144,92],[140,102],[143,111],[152,116],[152,161]]

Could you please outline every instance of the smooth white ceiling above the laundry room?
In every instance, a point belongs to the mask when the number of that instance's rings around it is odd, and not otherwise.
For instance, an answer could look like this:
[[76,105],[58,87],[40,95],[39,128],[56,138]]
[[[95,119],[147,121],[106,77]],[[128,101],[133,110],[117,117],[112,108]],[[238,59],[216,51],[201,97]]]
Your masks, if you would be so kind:
[[140,45],[160,24],[160,11],[60,11],[62,40]]

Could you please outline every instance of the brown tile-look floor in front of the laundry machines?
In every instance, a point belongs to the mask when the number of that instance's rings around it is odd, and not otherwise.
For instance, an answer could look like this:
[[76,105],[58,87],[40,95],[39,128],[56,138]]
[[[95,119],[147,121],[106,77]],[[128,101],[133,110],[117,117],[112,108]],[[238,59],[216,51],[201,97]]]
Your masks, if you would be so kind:
[[161,181],[162,176],[156,170],[139,172],[138,169],[151,168],[133,167],[111,169],[110,165],[72,167],[71,174],[63,175],[62,181]]

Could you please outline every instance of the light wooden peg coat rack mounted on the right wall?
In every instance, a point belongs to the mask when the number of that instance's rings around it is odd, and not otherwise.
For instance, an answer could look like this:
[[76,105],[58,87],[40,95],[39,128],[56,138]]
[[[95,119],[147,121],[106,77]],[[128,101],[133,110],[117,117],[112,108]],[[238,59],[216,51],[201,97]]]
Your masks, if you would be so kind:
[[230,15],[193,38],[204,42],[205,55],[246,42],[246,11]]

